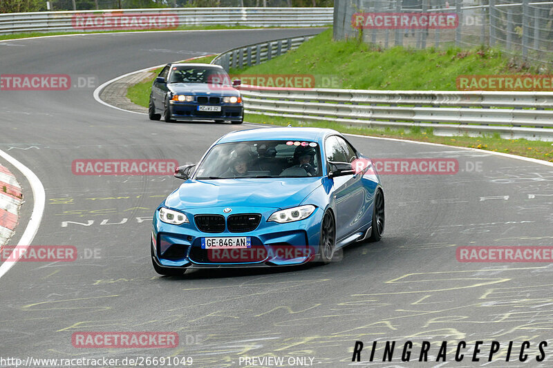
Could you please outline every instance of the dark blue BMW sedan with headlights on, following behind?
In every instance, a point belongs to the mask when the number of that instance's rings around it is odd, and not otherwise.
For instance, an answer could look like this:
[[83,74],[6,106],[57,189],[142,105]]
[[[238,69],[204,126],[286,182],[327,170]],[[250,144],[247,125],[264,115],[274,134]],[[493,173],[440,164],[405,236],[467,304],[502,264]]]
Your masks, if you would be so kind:
[[242,124],[244,105],[223,67],[212,64],[167,64],[153,81],[148,113],[165,122],[229,121]]

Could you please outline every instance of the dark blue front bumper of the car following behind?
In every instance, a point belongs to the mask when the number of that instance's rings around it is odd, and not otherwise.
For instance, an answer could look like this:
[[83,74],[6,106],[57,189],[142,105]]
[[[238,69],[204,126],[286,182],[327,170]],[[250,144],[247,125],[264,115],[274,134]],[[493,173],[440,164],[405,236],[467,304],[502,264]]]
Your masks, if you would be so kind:
[[[221,106],[221,111],[198,111],[198,106]],[[171,101],[169,115],[178,120],[230,120],[240,122],[244,115],[243,104],[198,104],[197,102]]]

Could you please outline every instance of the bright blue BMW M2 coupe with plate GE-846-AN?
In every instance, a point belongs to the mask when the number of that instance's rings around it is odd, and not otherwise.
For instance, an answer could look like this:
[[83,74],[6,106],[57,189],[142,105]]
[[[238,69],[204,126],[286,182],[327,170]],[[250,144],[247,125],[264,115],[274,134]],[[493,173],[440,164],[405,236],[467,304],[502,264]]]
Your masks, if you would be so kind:
[[[360,160],[368,164],[359,169]],[[335,130],[239,130],[175,176],[185,182],[153,216],[151,259],[162,275],[326,264],[337,249],[384,233],[379,176]]]

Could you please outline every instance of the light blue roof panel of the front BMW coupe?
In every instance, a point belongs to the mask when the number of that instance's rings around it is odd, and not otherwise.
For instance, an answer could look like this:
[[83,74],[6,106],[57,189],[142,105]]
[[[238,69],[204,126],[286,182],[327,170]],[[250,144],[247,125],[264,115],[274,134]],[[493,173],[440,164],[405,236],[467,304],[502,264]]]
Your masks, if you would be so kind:
[[221,137],[217,143],[261,141],[261,140],[301,140],[311,142],[322,142],[327,135],[339,132],[324,128],[303,128],[289,126],[286,128],[254,128],[238,130]]

